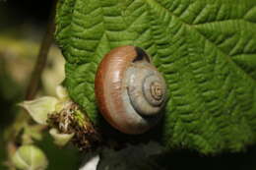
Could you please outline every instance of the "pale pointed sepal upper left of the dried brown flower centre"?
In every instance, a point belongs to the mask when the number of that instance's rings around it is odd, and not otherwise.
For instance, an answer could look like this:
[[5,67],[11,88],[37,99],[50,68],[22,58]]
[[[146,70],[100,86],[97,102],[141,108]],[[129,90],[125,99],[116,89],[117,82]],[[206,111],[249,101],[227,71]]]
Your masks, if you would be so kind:
[[35,122],[46,125],[47,115],[55,110],[57,103],[58,100],[55,97],[45,96],[31,101],[24,101],[19,105],[30,113]]

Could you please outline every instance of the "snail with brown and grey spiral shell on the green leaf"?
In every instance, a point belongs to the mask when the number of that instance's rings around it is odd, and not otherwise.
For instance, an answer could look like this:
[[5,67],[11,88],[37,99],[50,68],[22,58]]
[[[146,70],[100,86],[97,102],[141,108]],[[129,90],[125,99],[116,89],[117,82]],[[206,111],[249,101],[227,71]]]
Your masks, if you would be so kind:
[[149,55],[121,46],[107,53],[96,71],[99,112],[125,134],[143,134],[157,125],[166,100],[166,85]]

